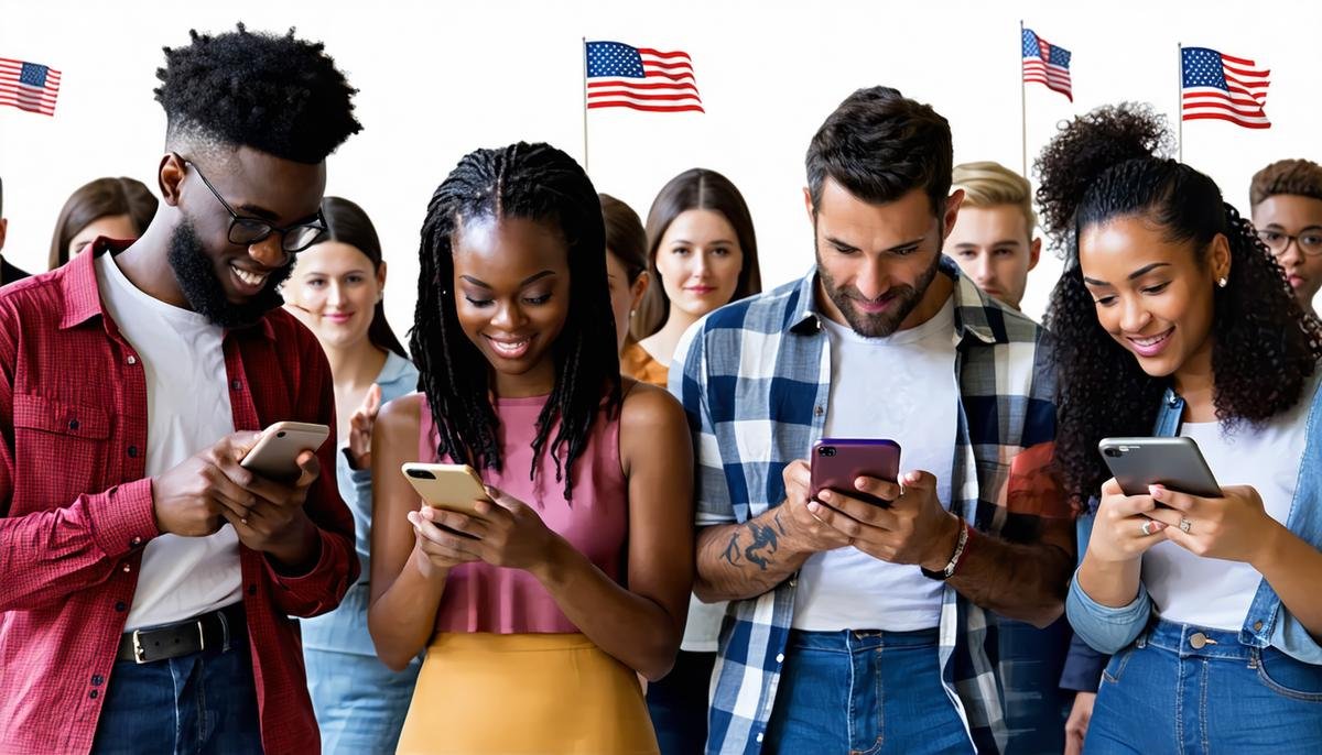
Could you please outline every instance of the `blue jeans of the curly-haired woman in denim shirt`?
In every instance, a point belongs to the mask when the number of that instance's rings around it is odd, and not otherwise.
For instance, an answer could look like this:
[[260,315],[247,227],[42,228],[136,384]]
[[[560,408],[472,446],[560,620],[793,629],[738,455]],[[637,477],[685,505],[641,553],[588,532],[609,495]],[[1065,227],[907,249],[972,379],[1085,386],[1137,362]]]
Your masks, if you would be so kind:
[[1322,667],[1157,620],[1107,665],[1084,752],[1315,755]]

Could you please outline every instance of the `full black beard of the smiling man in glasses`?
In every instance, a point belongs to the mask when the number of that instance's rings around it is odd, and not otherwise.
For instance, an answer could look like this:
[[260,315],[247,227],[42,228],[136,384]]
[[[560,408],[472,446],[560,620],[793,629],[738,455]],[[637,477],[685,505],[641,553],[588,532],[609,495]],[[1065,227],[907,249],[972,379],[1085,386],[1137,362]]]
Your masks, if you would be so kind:
[[253,325],[263,314],[284,304],[278,289],[293,272],[292,264],[272,271],[256,296],[243,304],[234,304],[226,297],[225,286],[215,276],[215,263],[202,248],[202,242],[188,220],[176,226],[171,234],[169,267],[175,271],[175,280],[178,281],[188,306],[225,329]]

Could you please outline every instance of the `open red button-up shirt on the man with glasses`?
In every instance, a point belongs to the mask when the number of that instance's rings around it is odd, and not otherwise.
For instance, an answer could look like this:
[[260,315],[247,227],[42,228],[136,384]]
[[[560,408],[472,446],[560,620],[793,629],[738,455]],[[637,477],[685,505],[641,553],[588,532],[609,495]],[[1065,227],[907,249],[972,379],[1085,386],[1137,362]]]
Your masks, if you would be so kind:
[[[93,253],[0,290],[0,752],[87,752],[134,599],[159,535],[145,478],[147,384],[102,308]],[[237,430],[293,420],[334,426],[317,341],[276,309],[225,335]],[[219,438],[217,438],[219,440]],[[320,557],[278,573],[241,545],[243,605],[267,752],[317,752],[297,623],[336,607],[358,574],[334,443],[305,511]]]

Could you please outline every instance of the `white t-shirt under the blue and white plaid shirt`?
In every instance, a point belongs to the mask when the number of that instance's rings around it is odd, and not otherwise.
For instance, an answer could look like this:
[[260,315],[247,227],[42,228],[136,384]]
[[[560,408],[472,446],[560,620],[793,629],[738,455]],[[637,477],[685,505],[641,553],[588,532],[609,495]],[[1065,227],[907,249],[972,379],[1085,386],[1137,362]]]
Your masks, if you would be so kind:
[[[890,438],[900,470],[936,475],[951,506],[960,393],[954,383],[954,305],[887,338],[863,338],[822,318],[830,338],[826,437]],[[806,451],[806,449],[805,449]],[[929,630],[941,623],[943,583],[916,565],[888,564],[857,548],[814,553],[798,572],[796,630]]]

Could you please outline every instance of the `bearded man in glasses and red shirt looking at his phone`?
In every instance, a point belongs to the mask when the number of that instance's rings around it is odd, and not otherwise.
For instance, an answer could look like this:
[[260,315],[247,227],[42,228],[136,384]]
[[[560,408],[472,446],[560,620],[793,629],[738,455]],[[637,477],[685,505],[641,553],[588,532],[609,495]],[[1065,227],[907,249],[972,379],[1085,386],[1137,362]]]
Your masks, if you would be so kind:
[[[358,573],[333,443],[239,465],[276,421],[334,426],[316,338],[276,306],[360,125],[320,44],[165,50],[163,198],[134,243],[0,293],[0,740],[7,752],[316,752],[297,628]],[[21,327],[20,327],[21,325]]]

